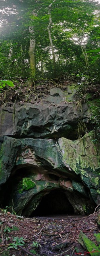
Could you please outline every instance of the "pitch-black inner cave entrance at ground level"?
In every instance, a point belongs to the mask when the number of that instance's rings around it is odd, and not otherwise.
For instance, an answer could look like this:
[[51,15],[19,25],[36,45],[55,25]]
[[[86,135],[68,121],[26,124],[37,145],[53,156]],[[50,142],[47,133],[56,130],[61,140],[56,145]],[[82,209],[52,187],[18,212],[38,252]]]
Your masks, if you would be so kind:
[[40,204],[32,212],[31,217],[53,214],[74,214],[74,208],[63,190],[52,190],[49,194],[43,196]]

